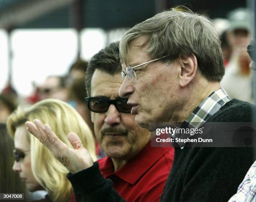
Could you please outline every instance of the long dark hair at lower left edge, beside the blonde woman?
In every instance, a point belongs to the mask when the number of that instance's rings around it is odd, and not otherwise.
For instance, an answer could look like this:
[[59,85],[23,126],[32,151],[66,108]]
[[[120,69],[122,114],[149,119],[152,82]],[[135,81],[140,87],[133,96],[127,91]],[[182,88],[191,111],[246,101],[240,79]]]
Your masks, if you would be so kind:
[[18,173],[13,172],[13,140],[4,123],[0,123],[0,193],[24,193],[25,186]]

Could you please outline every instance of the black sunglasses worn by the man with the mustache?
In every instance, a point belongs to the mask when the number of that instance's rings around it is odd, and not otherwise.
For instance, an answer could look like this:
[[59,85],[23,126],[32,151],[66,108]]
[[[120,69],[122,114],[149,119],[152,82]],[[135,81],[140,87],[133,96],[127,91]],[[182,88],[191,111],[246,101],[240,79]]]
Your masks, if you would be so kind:
[[132,106],[127,105],[128,98],[118,98],[110,100],[104,97],[85,97],[85,101],[90,111],[96,113],[104,113],[108,111],[110,105],[115,105],[115,108],[120,113],[131,113]]

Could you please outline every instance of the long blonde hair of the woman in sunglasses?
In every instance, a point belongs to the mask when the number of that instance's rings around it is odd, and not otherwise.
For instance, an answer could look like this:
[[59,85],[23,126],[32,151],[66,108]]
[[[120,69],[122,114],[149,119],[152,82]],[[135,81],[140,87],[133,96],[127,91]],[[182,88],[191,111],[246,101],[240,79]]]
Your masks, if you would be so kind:
[[[75,132],[92,158],[97,159],[92,132],[79,113],[66,102],[46,99],[27,110],[18,107],[7,120],[10,136],[14,137],[16,127],[26,121],[33,122],[35,119],[40,120],[43,124],[49,124],[59,139],[71,148],[73,147],[67,140],[67,134]],[[56,160],[50,150],[30,133],[28,133],[28,140],[31,149],[31,168],[36,180],[45,188],[54,202],[69,201],[73,189],[66,177],[68,173],[66,167]]]

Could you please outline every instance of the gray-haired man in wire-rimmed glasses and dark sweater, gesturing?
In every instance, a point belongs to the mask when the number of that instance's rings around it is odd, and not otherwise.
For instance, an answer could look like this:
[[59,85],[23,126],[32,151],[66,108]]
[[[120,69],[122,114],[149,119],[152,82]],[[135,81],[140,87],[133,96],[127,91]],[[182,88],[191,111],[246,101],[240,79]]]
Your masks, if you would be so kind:
[[[128,98],[136,123],[149,131],[161,122],[199,128],[205,122],[252,121],[253,106],[230,100],[220,86],[225,72],[223,55],[218,33],[206,17],[175,9],[161,12],[125,33],[120,41],[120,58],[124,81],[119,95]],[[43,137],[39,136],[42,142],[51,145]],[[86,158],[86,152],[81,160],[77,136],[71,135],[69,140],[76,148],[72,155],[80,157],[79,166],[75,161],[72,166],[64,162],[73,173],[68,177],[74,190],[84,201],[123,201]],[[253,150],[249,147],[175,147],[161,201],[228,201],[252,162]],[[88,173],[93,175],[89,177]],[[84,176],[87,182],[75,183]],[[90,186],[94,180],[97,187]]]

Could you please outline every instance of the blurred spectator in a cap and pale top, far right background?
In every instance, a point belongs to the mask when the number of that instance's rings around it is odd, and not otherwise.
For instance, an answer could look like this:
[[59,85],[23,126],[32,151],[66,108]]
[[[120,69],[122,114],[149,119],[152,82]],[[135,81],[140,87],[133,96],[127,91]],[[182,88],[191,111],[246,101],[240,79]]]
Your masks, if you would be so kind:
[[220,85],[229,97],[253,103],[251,62],[246,47],[251,39],[252,16],[246,8],[238,8],[228,13],[230,27],[228,42],[231,56]]

